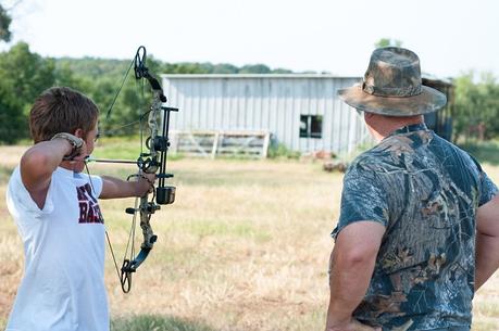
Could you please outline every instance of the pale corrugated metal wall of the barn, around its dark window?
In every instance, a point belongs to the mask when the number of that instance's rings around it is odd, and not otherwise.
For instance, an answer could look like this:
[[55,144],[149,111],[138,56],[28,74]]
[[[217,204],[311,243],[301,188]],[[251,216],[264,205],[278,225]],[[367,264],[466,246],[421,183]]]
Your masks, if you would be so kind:
[[[369,140],[338,89],[360,78],[329,75],[163,75],[173,130],[269,130],[289,149],[346,153]],[[300,115],[322,115],[322,138],[300,138]]]

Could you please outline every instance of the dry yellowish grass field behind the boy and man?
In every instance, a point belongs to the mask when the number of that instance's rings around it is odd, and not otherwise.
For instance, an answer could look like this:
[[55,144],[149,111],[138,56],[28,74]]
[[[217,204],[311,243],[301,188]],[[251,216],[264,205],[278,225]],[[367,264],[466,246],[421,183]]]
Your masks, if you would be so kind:
[[[0,329],[22,277],[23,247],[4,203],[22,151],[0,148]],[[116,157],[105,148],[104,156]],[[121,292],[108,254],[113,330],[323,330],[341,174],[310,161],[179,158],[169,165],[176,202],[153,216],[159,239],[129,294]],[[485,168],[499,182],[499,166]],[[134,170],[90,167],[122,177]],[[118,259],[130,222],[124,208],[132,205],[101,203]],[[474,315],[473,330],[499,330],[499,275],[477,293]]]

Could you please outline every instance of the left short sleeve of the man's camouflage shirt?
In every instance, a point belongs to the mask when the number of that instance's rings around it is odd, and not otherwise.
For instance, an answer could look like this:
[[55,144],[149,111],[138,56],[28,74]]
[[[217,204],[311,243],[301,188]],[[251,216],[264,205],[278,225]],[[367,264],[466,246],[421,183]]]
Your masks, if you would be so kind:
[[344,178],[339,220],[332,237],[336,240],[339,231],[346,226],[360,220],[372,220],[386,227],[388,225],[386,195],[382,182],[373,170],[353,164]]

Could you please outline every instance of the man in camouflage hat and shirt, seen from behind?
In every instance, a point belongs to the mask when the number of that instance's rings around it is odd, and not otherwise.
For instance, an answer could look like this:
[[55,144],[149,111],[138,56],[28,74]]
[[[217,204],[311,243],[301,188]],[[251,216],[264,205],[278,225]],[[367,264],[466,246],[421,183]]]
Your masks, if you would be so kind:
[[327,331],[470,330],[474,292],[499,266],[497,188],[426,128],[447,101],[421,81],[417,55],[389,47],[339,91],[378,144],[344,179]]

